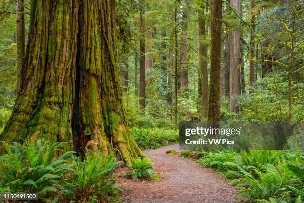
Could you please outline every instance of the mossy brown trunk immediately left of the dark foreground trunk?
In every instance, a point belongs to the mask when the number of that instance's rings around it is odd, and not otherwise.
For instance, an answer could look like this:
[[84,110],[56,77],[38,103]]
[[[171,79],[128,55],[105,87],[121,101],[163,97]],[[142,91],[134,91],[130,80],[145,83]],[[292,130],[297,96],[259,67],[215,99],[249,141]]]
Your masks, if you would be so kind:
[[209,100],[209,86],[208,86],[208,68],[207,68],[207,44],[206,40],[206,25],[205,25],[205,6],[199,5],[198,8],[198,24],[199,24],[199,82],[201,87],[200,100],[202,105],[202,115],[208,115],[208,100]]

